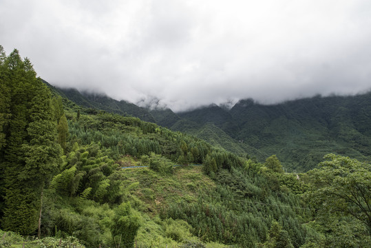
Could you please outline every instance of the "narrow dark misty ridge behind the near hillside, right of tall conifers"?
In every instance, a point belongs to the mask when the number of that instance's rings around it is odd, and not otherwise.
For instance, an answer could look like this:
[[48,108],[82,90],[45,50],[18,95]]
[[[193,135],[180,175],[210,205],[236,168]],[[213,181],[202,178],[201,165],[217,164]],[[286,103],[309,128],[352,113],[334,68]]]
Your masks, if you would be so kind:
[[133,103],[129,103],[127,101],[117,101],[109,96],[105,96],[104,94],[79,92],[74,88],[59,88],[54,87],[49,83],[47,83],[47,85],[52,87],[52,92],[57,92],[57,94],[60,94],[70,101],[73,101],[77,105],[81,105],[82,107],[104,110],[106,112],[122,114],[124,116],[134,116],[140,118],[142,121],[152,123],[156,122],[148,110],[146,110],[144,107],[138,107]]

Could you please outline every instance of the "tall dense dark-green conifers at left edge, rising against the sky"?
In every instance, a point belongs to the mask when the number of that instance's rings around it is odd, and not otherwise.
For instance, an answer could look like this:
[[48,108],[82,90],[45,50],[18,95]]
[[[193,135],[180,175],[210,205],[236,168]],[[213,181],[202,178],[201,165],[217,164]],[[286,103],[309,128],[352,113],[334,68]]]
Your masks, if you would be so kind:
[[2,151],[3,218],[1,228],[33,234],[41,216],[43,188],[58,169],[61,147],[50,91],[36,79],[28,59],[14,50],[5,60],[1,80],[10,92],[10,120]]

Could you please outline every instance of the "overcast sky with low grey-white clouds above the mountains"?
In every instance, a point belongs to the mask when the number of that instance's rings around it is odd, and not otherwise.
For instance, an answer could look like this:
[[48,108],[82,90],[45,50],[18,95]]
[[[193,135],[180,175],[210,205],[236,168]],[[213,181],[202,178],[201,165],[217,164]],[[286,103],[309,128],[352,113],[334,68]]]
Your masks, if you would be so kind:
[[175,111],[371,89],[370,0],[1,0],[0,45],[52,85]]

